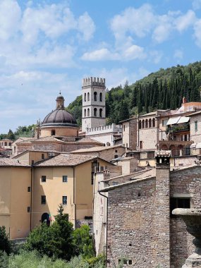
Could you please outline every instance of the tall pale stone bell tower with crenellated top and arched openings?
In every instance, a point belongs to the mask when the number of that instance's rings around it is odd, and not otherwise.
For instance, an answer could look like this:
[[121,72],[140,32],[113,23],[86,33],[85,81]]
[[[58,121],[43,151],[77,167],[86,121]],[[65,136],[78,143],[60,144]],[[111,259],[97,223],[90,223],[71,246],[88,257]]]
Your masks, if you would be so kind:
[[82,130],[106,125],[105,118],[105,79],[83,79]]

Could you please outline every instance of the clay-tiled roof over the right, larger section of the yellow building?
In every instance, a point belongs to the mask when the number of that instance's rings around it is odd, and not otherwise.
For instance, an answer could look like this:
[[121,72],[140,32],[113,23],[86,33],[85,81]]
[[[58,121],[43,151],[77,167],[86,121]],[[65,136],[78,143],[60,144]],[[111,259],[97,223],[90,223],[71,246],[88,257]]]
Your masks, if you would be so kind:
[[56,157],[37,162],[34,166],[78,166],[92,159],[96,156],[80,155],[80,154],[59,154]]

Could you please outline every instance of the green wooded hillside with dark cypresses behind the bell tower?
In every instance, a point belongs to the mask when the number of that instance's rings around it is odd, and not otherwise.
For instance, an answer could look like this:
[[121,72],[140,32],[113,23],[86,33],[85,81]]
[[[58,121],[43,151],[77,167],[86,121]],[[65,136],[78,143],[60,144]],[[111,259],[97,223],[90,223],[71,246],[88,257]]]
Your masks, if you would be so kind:
[[[118,123],[134,114],[145,114],[155,109],[176,109],[185,96],[188,102],[200,102],[201,61],[188,66],[160,68],[145,78],[128,85],[106,90],[106,121]],[[82,96],[66,107],[79,125],[82,118]]]

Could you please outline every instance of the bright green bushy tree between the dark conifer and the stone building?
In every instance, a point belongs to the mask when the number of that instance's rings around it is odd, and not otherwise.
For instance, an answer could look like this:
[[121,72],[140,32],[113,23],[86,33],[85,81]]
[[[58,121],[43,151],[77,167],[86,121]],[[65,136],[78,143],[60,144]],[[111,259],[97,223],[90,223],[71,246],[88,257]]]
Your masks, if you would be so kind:
[[90,227],[83,225],[73,232],[73,243],[75,245],[75,254],[82,255],[85,258],[94,257],[92,236],[90,236]]

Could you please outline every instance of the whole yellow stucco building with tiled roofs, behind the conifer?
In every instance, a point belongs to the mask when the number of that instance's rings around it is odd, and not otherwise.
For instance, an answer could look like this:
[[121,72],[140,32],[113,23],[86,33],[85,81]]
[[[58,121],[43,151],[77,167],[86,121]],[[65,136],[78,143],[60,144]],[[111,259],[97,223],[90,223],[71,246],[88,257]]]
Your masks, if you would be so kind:
[[51,157],[38,151],[1,158],[0,226],[6,226],[11,239],[25,238],[42,222],[51,224],[59,204],[73,226],[80,226],[92,218],[93,174],[102,166],[115,167],[90,155]]

